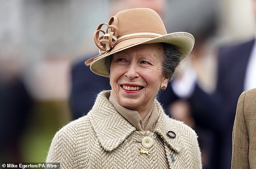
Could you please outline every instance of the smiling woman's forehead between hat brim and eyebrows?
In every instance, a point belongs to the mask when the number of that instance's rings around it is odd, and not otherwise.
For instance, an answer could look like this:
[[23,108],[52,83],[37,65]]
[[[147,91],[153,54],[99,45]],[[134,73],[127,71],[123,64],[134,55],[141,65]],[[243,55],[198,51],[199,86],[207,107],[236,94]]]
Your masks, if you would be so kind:
[[137,45],[123,51],[120,51],[114,56],[162,56],[164,53],[164,48],[160,43],[150,43],[150,44],[141,44]]

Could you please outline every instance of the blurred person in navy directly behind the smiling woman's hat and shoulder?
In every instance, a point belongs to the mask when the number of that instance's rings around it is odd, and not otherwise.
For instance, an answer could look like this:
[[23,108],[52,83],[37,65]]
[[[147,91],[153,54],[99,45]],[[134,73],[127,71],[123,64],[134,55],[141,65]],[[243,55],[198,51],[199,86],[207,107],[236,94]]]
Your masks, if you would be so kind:
[[[141,7],[151,8],[162,16],[166,2],[165,0],[110,0],[109,3],[110,16],[115,15],[120,10]],[[85,56],[84,58],[89,58],[90,56]],[[110,89],[109,79],[103,76],[94,76],[90,69],[84,65],[84,60],[73,64],[71,68],[71,94],[69,96],[69,105],[73,118],[77,119],[82,115],[86,115],[92,108],[97,93]]]

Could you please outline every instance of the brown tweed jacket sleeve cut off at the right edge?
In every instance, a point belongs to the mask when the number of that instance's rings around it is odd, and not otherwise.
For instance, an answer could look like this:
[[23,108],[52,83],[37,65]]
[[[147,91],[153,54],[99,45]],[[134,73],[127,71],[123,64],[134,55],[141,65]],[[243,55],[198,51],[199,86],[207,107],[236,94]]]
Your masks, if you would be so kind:
[[232,169],[256,169],[256,88],[244,91],[233,126]]

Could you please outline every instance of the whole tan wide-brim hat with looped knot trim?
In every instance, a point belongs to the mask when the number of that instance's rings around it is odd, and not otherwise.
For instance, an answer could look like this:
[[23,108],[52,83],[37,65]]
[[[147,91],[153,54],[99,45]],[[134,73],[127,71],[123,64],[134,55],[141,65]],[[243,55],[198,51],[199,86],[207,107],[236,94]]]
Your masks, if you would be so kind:
[[[107,31],[101,30],[107,25]],[[99,33],[103,36],[99,36]],[[109,23],[102,23],[94,33],[94,42],[99,48],[99,55],[85,62],[90,70],[100,76],[109,76],[105,66],[105,58],[124,49],[147,43],[169,43],[181,52],[185,58],[193,49],[195,39],[187,32],[167,34],[160,16],[149,8],[123,10],[111,17]]]

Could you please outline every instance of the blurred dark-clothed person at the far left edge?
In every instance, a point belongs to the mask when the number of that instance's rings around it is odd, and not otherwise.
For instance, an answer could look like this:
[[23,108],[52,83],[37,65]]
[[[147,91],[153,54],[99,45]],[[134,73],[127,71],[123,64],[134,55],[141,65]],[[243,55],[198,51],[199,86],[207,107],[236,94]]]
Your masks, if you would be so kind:
[[21,136],[27,126],[32,99],[24,85],[14,52],[0,53],[0,161],[23,162]]

